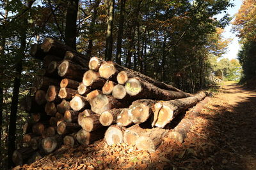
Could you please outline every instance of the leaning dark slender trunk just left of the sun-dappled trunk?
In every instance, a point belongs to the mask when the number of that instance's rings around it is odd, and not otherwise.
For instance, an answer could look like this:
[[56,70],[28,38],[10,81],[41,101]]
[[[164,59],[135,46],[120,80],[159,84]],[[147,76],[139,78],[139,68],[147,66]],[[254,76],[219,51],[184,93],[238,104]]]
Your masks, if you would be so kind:
[[97,8],[99,7],[100,1],[96,0],[95,3],[93,4],[93,16],[92,16],[92,21],[91,21],[91,25],[89,28],[89,35],[91,36],[88,42],[88,48],[87,48],[87,52],[86,52],[86,56],[88,58],[92,57],[92,41],[93,41],[93,33],[94,33],[94,25],[97,19]]

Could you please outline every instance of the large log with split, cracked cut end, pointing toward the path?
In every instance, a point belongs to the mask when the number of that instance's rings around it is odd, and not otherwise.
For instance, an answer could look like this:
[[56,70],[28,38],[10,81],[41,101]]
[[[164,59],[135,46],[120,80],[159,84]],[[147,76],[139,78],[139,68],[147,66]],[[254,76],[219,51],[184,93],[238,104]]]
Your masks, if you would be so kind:
[[176,99],[171,101],[158,102],[152,106],[154,111],[154,121],[152,127],[164,127],[171,122],[180,112],[187,110],[204,99],[205,93],[196,94],[193,97]]

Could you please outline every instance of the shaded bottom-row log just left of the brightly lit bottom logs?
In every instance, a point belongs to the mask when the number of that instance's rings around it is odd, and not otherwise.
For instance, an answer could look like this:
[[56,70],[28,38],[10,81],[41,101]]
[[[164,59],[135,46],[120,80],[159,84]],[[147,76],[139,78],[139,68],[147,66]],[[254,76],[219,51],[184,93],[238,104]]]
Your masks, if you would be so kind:
[[84,131],[84,129],[81,129],[76,133],[76,140],[81,145],[90,145],[94,141],[104,138],[105,131],[106,129],[98,129],[97,131],[94,132],[87,132]]

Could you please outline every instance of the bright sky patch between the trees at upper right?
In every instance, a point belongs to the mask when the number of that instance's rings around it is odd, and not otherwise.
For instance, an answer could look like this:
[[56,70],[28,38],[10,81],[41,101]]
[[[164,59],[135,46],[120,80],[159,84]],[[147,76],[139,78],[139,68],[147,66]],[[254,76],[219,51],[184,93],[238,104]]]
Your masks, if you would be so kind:
[[[239,11],[239,8],[240,8],[240,6],[243,2],[242,2],[242,0],[231,0],[231,3],[234,4],[234,7],[228,8],[227,13],[230,15],[230,17],[234,17],[234,15]],[[225,13],[221,13],[220,15],[217,15],[216,17],[218,19],[220,19],[221,17],[223,17],[223,15],[225,15]],[[233,20],[234,20],[234,18],[233,18]],[[225,53],[221,57],[221,59],[222,58],[228,58],[230,60],[231,59],[236,59],[237,58],[237,53],[240,49],[240,45],[238,43],[239,39],[236,37],[236,34],[234,32],[232,32],[232,24],[225,27],[223,36],[225,38],[232,38],[233,41],[228,45],[227,53]]]

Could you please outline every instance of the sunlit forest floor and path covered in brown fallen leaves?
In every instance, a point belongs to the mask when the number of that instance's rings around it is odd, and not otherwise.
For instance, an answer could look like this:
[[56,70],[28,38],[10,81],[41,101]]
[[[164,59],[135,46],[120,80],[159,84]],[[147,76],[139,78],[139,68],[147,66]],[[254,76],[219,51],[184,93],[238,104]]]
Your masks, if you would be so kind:
[[256,169],[256,89],[226,83],[201,112],[184,143],[164,138],[156,152],[127,145],[63,146],[31,169]]

